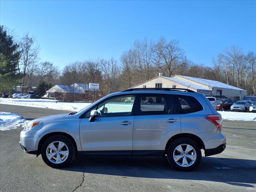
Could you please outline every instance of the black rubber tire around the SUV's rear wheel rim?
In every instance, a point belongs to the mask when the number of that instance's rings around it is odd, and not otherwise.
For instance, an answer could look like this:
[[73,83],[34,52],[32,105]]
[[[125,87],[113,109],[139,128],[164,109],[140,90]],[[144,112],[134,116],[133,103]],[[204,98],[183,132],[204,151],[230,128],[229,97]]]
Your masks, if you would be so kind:
[[[175,162],[174,157],[173,157],[175,148],[182,144],[188,144],[188,145],[192,146],[194,148],[194,150],[196,151],[196,160],[194,161],[194,163],[192,165],[190,165],[188,167],[182,167],[182,166],[178,165]],[[198,144],[196,142],[194,142],[191,139],[180,138],[180,139],[177,139],[174,142],[172,142],[172,144],[170,144],[170,146],[168,148],[168,152],[167,152],[167,158],[168,158],[168,162],[174,169],[176,169],[178,171],[191,171],[191,170],[194,170],[200,163],[200,161],[202,159],[202,153],[201,153],[200,147],[198,146]],[[186,157],[183,157],[183,158],[186,158]],[[188,160],[188,158],[186,158],[186,159]],[[182,160],[182,158],[181,158],[181,160]]]

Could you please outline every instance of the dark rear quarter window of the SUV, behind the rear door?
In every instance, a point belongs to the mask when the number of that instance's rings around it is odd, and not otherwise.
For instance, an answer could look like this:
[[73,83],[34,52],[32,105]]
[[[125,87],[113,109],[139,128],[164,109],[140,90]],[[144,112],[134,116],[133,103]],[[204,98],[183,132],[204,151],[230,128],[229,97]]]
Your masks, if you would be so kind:
[[176,98],[177,101],[176,113],[184,114],[203,110],[200,102],[198,102],[198,100],[192,96],[174,95],[174,98]]

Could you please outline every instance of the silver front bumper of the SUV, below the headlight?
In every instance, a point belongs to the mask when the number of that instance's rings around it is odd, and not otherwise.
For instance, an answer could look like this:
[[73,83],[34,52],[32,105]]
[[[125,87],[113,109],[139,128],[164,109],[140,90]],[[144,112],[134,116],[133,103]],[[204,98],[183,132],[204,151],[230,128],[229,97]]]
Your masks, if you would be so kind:
[[40,139],[41,137],[33,130],[22,130],[20,132],[20,146],[26,153],[37,154]]

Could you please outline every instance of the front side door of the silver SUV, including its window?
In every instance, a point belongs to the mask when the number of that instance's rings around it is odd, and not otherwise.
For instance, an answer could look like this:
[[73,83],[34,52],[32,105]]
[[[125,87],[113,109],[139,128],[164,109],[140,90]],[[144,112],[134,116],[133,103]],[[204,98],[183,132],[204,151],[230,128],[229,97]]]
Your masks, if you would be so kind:
[[80,121],[83,154],[132,154],[134,95],[110,98],[98,104],[98,117],[89,122],[90,112]]

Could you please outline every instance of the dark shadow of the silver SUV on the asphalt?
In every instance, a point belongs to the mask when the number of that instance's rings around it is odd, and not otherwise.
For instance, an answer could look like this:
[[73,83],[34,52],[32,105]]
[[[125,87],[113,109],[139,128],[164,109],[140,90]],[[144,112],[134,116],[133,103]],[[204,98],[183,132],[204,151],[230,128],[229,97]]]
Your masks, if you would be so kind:
[[254,187],[256,160],[203,157],[192,172],[178,172],[162,157],[78,156],[64,170],[123,177],[206,180]]

